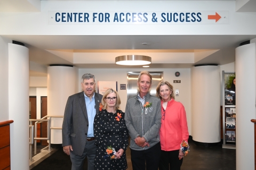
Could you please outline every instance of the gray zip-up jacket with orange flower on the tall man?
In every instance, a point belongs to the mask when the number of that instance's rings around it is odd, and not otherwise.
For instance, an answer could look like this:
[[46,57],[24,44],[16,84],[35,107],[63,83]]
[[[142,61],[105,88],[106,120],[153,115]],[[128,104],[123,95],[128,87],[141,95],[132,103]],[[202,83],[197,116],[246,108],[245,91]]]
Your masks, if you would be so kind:
[[[127,100],[125,107],[125,123],[131,137],[130,148],[133,150],[144,150],[153,147],[159,142],[159,129],[161,127],[161,100],[148,94],[145,96],[145,103],[151,106],[143,107],[137,96]],[[144,137],[149,147],[136,145],[134,139]]]

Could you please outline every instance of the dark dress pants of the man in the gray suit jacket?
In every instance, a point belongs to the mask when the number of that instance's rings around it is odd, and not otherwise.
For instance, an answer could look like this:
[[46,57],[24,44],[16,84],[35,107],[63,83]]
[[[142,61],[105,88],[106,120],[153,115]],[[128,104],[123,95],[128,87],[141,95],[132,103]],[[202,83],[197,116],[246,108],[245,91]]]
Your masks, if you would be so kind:
[[71,170],[83,170],[84,159],[86,156],[88,160],[88,170],[94,170],[94,160],[96,155],[96,149],[97,149],[97,146],[95,145],[95,140],[92,140],[92,141],[86,141],[82,156],[79,156],[70,152],[70,159],[72,162]]

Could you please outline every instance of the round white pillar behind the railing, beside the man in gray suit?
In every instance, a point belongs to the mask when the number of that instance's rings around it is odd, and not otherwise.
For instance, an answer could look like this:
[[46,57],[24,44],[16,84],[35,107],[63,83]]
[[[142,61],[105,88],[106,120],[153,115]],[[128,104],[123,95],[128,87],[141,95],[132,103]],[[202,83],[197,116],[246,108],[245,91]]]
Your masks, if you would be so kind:
[[[70,66],[47,68],[47,115],[64,115],[67,99],[78,92],[78,69]],[[62,127],[62,118],[52,118],[52,127]],[[62,143],[61,130],[51,130],[51,143]]]

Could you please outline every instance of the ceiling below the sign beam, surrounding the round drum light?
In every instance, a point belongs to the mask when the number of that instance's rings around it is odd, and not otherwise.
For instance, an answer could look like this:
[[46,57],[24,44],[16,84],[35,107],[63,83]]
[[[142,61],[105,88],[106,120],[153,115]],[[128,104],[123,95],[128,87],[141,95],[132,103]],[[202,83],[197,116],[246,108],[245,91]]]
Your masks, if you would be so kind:
[[[6,4],[10,3],[10,1],[3,0],[2,4],[0,4],[4,5],[3,2]],[[152,64],[150,64],[150,69],[189,68],[196,64],[223,65],[234,62],[235,48],[238,47],[240,43],[246,40],[256,38],[256,35],[8,35],[4,37],[10,38],[15,41],[20,41],[29,48],[30,76],[46,76],[46,68],[50,64],[70,64],[77,66],[78,68],[89,69],[141,68],[142,66],[122,66],[115,64],[115,57],[119,55],[130,54],[141,54],[152,57]],[[147,45],[143,45],[143,43],[147,43]],[[75,56],[78,54],[83,54],[87,58],[84,57],[85,59],[83,62],[76,62]],[[172,56],[173,54],[177,54],[177,56],[179,56],[175,59],[175,62],[173,62],[172,60],[165,60],[166,57],[162,57],[169,55]],[[189,55],[191,56],[191,54],[195,56],[193,61],[187,60],[187,58],[189,57]],[[92,57],[90,56],[94,56],[93,60],[91,60]]]

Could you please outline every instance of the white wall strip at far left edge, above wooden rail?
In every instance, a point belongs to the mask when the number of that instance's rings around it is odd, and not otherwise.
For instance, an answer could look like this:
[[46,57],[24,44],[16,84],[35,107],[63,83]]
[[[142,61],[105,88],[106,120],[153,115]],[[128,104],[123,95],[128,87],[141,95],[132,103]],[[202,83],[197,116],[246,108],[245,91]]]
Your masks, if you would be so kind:
[[8,43],[11,42],[0,36],[0,122],[9,120]]

